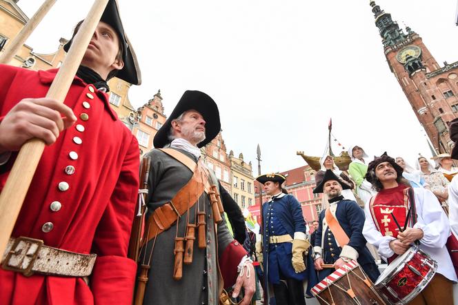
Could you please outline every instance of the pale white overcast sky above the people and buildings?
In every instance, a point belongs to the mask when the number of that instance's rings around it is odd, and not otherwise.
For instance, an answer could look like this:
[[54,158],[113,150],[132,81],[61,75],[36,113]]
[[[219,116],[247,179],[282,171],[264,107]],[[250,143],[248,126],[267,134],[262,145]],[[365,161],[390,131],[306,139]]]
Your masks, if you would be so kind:
[[[31,17],[41,2],[18,4]],[[458,61],[456,1],[377,4],[417,32],[440,66]],[[54,52],[90,6],[57,1],[28,45]],[[297,150],[321,155],[330,117],[346,148],[358,144],[371,156],[388,150],[412,165],[418,153],[430,156],[386,63],[369,1],[120,0],[119,6],[143,75],[129,92],[133,106],[161,89],[169,115],[185,90],[208,93],[219,105],[228,153],[256,165],[259,144],[263,173],[305,165]]]

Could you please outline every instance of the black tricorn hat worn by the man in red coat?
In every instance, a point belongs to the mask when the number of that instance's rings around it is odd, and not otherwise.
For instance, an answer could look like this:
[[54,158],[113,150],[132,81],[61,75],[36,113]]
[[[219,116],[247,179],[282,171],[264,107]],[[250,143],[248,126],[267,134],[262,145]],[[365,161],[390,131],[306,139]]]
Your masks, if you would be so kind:
[[[130,45],[130,41],[124,32],[123,24],[121,22],[121,17],[119,16],[119,9],[116,0],[108,1],[108,4],[103,11],[102,17],[100,21],[108,23],[112,28],[115,29],[117,32],[119,43],[122,46],[122,59],[124,61],[124,66],[121,70],[117,72],[116,77],[119,79],[123,79],[128,83],[132,83],[134,85],[141,84],[141,73],[139,68],[139,63],[137,62],[137,56],[135,55],[132,46]],[[73,33],[73,37],[76,33]],[[63,50],[68,52],[70,50],[70,46],[73,42],[73,37],[63,46]]]

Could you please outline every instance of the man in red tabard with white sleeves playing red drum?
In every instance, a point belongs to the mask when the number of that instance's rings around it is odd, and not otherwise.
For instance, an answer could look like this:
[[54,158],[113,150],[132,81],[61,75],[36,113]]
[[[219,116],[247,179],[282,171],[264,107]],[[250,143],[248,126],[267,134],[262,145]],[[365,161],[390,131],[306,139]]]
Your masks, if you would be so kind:
[[[386,153],[370,162],[366,179],[379,193],[366,204],[364,237],[388,259],[388,264],[418,241],[419,248],[438,267],[428,286],[409,304],[453,304],[452,284],[457,275],[445,247],[450,235],[447,216],[435,195],[425,188],[413,188],[417,213],[408,213],[409,186],[402,172],[395,159]],[[400,228],[408,222],[406,230],[400,232],[395,220]]]

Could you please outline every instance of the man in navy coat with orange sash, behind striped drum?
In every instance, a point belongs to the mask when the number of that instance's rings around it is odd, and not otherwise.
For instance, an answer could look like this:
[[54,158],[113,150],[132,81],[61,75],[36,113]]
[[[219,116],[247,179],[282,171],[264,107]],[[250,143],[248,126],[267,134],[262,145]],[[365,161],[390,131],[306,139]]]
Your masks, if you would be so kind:
[[[346,264],[350,260],[355,260],[363,268],[368,277],[375,282],[379,277],[379,269],[375,260],[366,248],[366,239],[363,236],[364,211],[358,206],[356,201],[344,199],[341,195],[343,189],[349,186],[342,183],[332,170],[326,170],[323,181],[313,190],[313,193],[326,193],[329,198],[329,210],[332,217],[344,230],[349,241],[345,245],[339,244],[335,234],[328,226],[326,209],[319,215],[319,226],[315,236],[315,269],[319,270],[319,280],[321,281],[335,269],[323,269],[321,264],[333,264],[335,268]],[[341,239],[340,239],[341,240]]]

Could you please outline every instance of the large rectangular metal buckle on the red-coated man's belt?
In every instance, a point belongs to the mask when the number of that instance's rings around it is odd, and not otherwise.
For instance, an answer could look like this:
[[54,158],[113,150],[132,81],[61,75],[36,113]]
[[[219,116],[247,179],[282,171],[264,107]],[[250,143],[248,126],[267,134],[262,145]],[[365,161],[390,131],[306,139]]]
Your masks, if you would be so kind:
[[[43,246],[41,239],[30,237],[18,237],[14,239],[10,251],[1,264],[1,268],[16,271],[26,277],[30,277],[33,274],[33,264],[38,257],[41,246]],[[14,259],[14,263],[11,262],[11,259]]]

